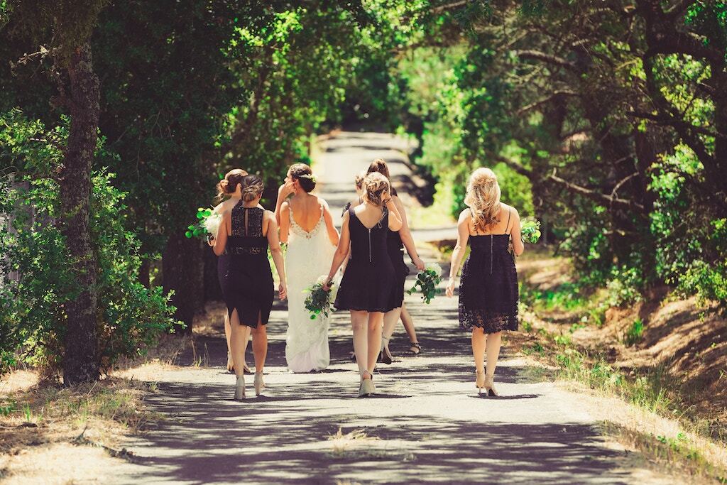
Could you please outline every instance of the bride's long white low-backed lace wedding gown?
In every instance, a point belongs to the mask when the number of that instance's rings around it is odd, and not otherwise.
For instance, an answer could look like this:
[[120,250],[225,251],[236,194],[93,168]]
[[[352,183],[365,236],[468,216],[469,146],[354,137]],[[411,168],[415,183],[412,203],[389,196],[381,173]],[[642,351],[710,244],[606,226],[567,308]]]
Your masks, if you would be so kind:
[[331,269],[336,246],[331,244],[321,207],[321,217],[310,232],[306,232],[293,218],[290,208],[290,237],[285,257],[288,277],[288,333],[285,360],[292,372],[310,372],[325,369],[331,359],[328,348],[329,318],[322,313],[310,319],[305,309],[305,289],[316,283]]

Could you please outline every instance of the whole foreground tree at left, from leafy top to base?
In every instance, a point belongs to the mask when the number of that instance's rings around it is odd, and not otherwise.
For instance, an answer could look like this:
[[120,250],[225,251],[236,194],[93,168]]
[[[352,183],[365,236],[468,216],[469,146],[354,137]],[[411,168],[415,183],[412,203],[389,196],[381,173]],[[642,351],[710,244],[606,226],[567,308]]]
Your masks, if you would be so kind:
[[77,286],[66,294],[63,382],[73,385],[99,377],[96,335],[97,262],[89,233],[91,167],[97,143],[99,80],[89,44],[105,0],[15,0],[9,2],[9,29],[31,36],[39,48],[33,57],[49,55],[57,83],[52,105],[71,117],[63,163],[57,167],[60,186],[60,228],[68,244]]

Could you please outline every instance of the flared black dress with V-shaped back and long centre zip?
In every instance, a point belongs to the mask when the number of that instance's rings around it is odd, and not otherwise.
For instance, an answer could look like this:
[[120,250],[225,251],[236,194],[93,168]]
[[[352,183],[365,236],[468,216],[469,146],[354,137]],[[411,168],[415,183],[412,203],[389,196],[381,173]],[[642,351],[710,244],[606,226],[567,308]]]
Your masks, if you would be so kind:
[[343,273],[334,307],[338,310],[387,312],[395,279],[387,250],[389,213],[386,209],[373,228],[366,228],[353,208],[348,209],[351,260]]

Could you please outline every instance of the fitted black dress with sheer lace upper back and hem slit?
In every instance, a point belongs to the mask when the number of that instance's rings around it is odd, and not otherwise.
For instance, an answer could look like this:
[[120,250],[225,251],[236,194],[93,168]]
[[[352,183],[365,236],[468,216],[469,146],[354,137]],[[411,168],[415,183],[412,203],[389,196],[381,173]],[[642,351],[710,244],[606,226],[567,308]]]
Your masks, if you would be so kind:
[[[232,209],[232,236],[228,236],[225,254],[220,258],[220,286],[228,314],[237,309],[240,323],[257,327],[260,315],[267,324],[273,308],[275,285],[268,262],[268,239],[262,235],[262,215],[259,207],[243,207],[242,202]],[[219,267],[218,267],[219,268]]]

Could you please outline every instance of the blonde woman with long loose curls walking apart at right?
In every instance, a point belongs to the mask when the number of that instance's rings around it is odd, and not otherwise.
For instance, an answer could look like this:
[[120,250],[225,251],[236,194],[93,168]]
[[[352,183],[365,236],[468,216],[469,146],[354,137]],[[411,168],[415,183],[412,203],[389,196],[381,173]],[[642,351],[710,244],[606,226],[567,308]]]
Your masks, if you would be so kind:
[[[503,330],[518,329],[518,273],[515,256],[523,254],[518,211],[499,200],[497,176],[490,169],[477,169],[467,185],[465,204],[459,215],[457,246],[452,252],[447,296],[454,294],[454,278],[470,244],[470,257],[462,268],[459,285],[459,326],[472,332],[475,385],[489,396],[498,396],[494,373]],[[487,368],[485,369],[485,353]]]

